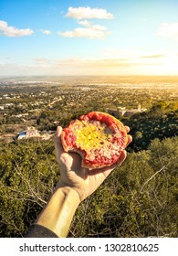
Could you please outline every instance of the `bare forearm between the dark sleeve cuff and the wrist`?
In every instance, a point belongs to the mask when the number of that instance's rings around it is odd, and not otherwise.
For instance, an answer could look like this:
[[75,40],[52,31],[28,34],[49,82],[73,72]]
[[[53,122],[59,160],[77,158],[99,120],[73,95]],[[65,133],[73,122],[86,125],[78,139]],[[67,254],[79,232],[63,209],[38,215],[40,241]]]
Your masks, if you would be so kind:
[[79,206],[79,194],[70,187],[58,187],[36,223],[55,232],[58,237],[68,235],[68,229]]

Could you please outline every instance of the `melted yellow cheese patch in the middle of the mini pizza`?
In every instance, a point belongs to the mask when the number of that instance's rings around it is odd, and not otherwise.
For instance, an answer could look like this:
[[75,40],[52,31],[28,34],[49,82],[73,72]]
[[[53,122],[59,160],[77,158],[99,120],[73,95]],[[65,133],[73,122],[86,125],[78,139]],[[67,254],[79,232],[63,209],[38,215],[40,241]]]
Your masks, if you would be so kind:
[[77,145],[84,150],[97,149],[101,144],[109,144],[111,134],[106,133],[108,127],[106,124],[99,122],[87,123],[85,121],[79,122],[80,128],[74,133],[77,138]]

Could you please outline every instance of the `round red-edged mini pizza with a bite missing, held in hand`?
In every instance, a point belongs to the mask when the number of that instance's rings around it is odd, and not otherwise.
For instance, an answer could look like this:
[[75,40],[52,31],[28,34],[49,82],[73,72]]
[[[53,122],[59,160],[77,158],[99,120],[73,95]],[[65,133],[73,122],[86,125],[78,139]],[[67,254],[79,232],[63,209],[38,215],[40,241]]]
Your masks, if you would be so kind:
[[61,133],[64,150],[79,153],[81,165],[89,169],[116,163],[127,141],[124,125],[105,112],[82,115]]

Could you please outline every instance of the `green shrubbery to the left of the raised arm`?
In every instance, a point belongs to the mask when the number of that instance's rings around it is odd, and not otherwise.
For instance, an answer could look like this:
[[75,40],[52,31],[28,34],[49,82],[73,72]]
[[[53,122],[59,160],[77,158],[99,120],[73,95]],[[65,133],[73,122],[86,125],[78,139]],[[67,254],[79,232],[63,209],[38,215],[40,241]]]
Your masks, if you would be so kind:
[[58,177],[52,143],[6,144],[0,152],[0,233],[21,237],[37,219]]

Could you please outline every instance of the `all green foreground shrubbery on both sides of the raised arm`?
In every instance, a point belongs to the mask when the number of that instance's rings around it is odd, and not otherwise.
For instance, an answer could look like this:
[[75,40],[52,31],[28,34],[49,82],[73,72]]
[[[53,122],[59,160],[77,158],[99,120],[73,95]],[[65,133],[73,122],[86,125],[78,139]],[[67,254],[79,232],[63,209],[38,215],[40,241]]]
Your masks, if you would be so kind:
[[[79,205],[68,236],[177,237],[177,157],[178,137],[129,154]],[[22,237],[58,181],[53,142],[5,144],[0,170],[0,236]]]

